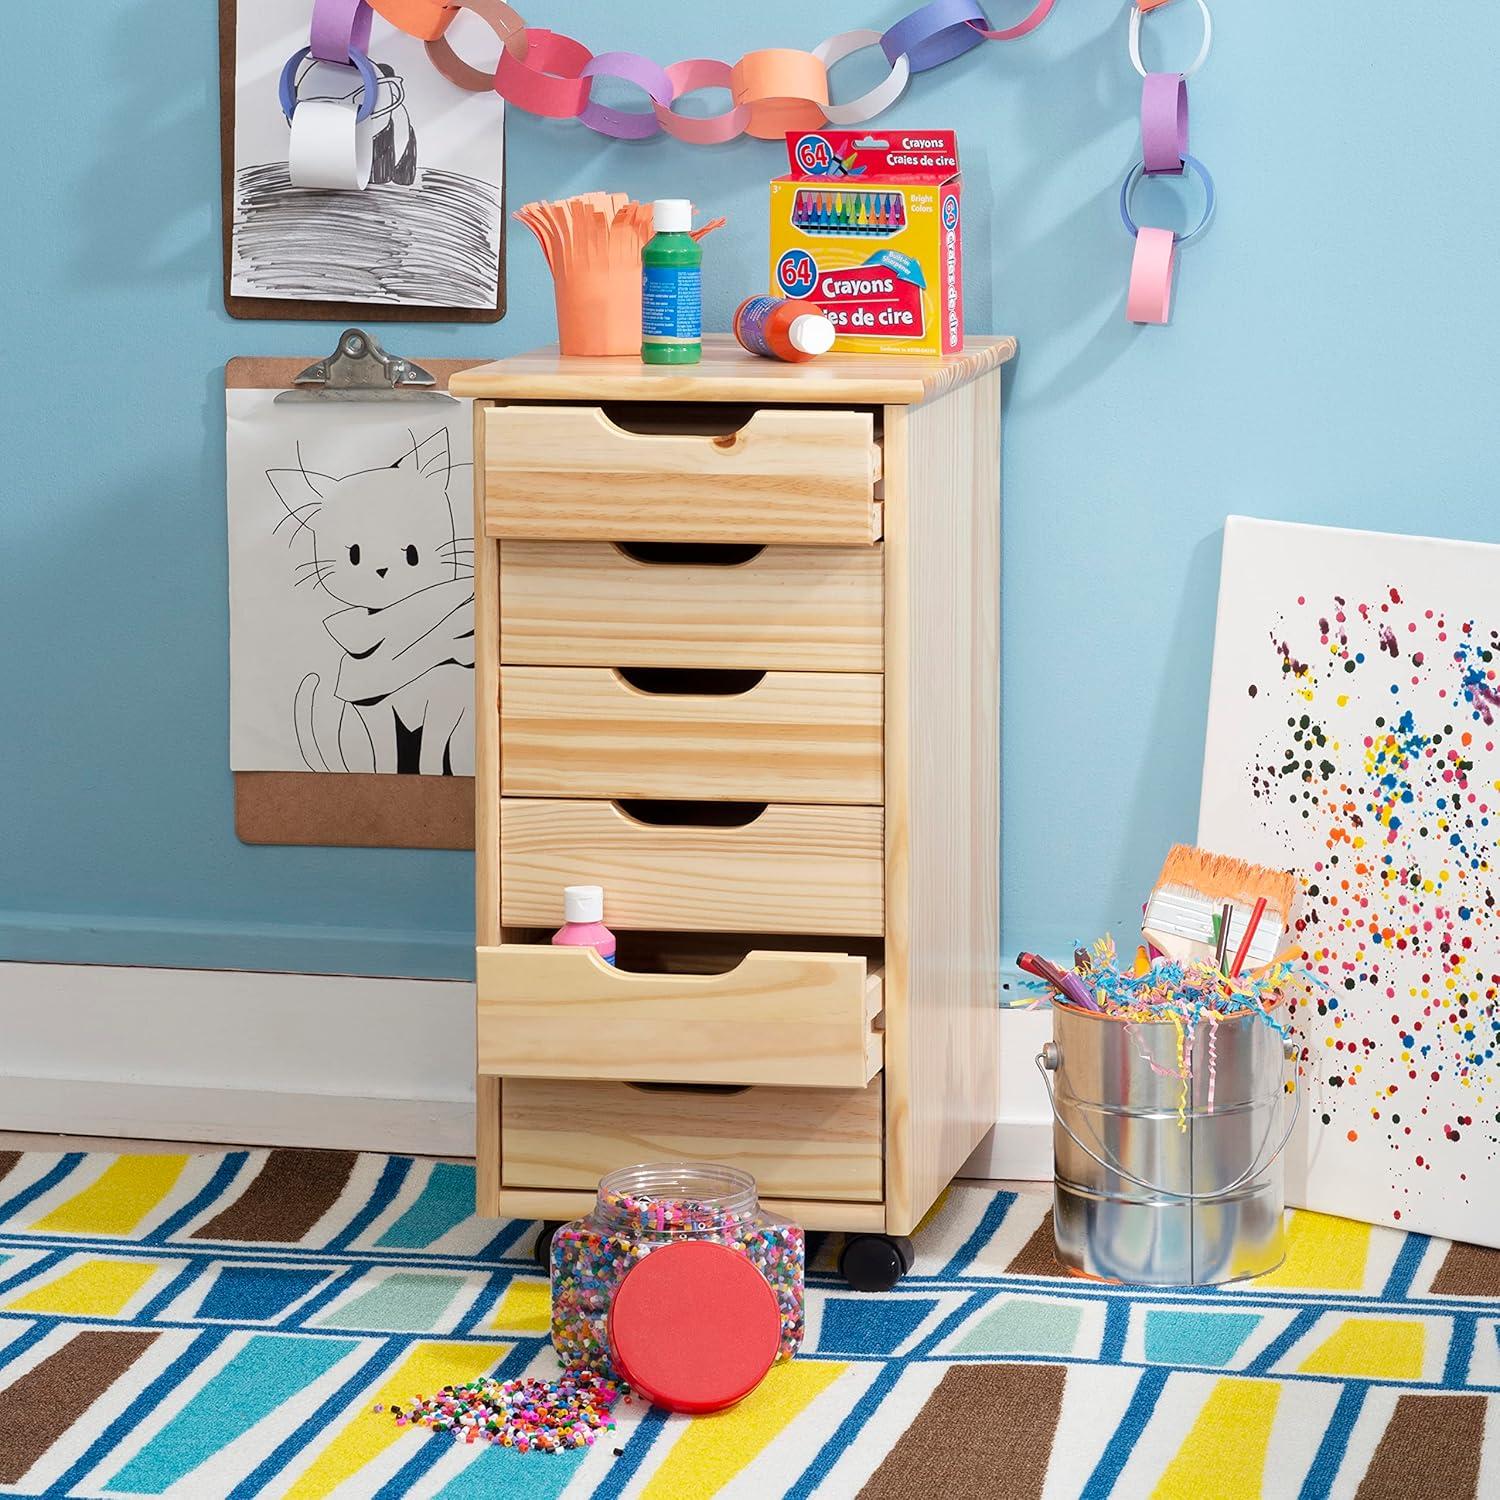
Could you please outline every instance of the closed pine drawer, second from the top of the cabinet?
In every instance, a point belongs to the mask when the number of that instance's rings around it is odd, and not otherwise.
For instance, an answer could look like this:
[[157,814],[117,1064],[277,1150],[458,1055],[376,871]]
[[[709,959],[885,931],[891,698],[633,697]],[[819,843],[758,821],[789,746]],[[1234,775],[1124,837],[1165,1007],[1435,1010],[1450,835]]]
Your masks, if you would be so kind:
[[[778,668],[879,672],[879,548],[663,546],[651,561],[608,542],[500,549],[500,652],[522,666]],[[663,554],[669,554],[663,556]]]

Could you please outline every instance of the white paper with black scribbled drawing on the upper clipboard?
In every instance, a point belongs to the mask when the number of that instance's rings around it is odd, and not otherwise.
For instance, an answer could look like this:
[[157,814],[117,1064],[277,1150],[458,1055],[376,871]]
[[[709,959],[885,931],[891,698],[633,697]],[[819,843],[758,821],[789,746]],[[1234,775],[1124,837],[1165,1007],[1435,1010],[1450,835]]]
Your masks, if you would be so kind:
[[[308,0],[240,0],[234,80],[231,292],[392,306],[494,308],[500,282],[506,106],[450,84],[423,44],[380,15],[370,62],[382,81],[375,177],[363,192],[290,184],[291,132],[278,100],[286,58],[308,45]],[[495,54],[477,16],[450,28],[476,63]],[[306,62],[298,98],[345,98],[346,68]]]

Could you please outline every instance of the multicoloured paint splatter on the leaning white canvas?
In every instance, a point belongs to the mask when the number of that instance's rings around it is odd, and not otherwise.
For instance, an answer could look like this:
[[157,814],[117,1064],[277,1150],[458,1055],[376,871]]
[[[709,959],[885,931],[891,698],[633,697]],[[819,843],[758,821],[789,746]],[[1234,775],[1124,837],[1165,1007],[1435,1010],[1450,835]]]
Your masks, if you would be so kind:
[[[1280,678],[1294,711],[1258,746],[1252,792],[1269,830],[1311,824],[1323,846],[1299,870],[1296,924],[1330,986],[1302,1014],[1293,1005],[1312,1107],[1348,1140],[1383,1137],[1404,1168],[1431,1172],[1430,1143],[1472,1131],[1494,1160],[1500,782],[1476,765],[1500,738],[1500,632],[1390,584],[1368,598],[1298,596],[1264,657],[1248,693]],[[1368,1005],[1358,1020],[1341,1005],[1370,990],[1390,1002],[1378,1024]],[[1408,1152],[1412,1140],[1426,1149]],[[1410,1192],[1406,1178],[1392,1174],[1395,1194]]]

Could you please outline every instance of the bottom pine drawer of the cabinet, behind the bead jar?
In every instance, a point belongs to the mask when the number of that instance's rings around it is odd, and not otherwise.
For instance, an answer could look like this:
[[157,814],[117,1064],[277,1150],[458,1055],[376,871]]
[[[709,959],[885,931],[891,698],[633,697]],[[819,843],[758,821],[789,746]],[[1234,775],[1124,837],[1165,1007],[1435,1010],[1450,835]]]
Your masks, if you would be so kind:
[[722,1161],[762,1198],[879,1203],[880,1082],[864,1089],[638,1089],[507,1078],[501,1182],[586,1190],[642,1161]]

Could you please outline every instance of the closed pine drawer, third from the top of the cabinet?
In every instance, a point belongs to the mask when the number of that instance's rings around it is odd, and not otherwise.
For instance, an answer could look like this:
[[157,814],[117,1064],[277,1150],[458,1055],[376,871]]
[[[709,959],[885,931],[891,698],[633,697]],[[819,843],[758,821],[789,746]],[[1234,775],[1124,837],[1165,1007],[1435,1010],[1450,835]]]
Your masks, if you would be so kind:
[[507,796],[876,806],[885,794],[873,674],[765,672],[724,694],[645,692],[608,668],[504,666],[500,726]]

